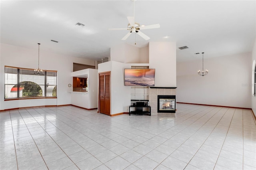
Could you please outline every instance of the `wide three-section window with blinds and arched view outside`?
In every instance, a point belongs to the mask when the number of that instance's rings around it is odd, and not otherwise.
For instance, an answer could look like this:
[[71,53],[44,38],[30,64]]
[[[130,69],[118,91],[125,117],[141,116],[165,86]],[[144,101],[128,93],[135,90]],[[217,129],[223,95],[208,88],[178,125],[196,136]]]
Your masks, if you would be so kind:
[[57,97],[57,71],[44,71],[5,66],[4,99]]

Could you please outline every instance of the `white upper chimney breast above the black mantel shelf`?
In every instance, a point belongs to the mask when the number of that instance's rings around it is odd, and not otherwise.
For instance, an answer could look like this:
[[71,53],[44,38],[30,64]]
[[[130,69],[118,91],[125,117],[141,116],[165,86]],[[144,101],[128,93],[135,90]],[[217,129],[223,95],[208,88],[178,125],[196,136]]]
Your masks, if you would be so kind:
[[155,87],[176,87],[176,42],[150,42],[149,68],[156,69]]

